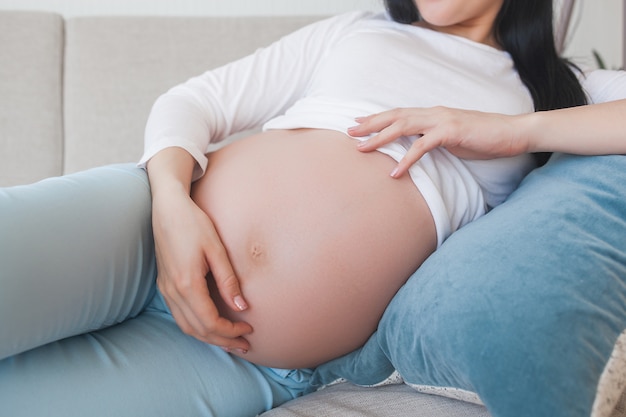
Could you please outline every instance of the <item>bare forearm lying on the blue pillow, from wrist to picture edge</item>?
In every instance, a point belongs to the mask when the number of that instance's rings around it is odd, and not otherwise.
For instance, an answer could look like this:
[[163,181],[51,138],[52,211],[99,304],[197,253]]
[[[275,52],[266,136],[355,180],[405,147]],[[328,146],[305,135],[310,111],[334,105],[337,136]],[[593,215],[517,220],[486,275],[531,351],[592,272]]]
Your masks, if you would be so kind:
[[626,154],[626,100],[516,116],[529,152]]

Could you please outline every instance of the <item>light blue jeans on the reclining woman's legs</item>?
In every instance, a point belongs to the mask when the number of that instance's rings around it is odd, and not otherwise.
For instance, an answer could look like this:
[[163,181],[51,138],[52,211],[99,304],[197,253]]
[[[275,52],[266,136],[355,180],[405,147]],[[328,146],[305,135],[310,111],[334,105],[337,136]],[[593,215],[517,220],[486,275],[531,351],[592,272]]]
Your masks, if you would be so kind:
[[254,416],[309,388],[183,334],[155,278],[142,170],[0,189],[0,415]]

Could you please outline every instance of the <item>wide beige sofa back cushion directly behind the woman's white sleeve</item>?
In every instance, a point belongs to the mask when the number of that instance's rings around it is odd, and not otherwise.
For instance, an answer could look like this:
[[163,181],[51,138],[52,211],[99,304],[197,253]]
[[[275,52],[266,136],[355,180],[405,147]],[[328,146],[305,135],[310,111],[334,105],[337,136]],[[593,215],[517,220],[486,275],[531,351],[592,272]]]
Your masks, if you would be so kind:
[[65,173],[138,161],[152,104],[174,85],[319,17],[67,21]]

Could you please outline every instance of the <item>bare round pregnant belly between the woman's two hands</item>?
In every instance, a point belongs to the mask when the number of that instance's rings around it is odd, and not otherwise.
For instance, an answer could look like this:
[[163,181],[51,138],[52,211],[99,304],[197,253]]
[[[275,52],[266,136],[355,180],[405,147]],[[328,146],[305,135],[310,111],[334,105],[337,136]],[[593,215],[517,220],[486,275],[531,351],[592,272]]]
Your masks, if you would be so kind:
[[243,356],[311,367],[363,344],[434,250],[430,211],[395,161],[324,130],[268,131],[213,153],[192,196],[209,214],[249,304],[218,308],[254,331]]

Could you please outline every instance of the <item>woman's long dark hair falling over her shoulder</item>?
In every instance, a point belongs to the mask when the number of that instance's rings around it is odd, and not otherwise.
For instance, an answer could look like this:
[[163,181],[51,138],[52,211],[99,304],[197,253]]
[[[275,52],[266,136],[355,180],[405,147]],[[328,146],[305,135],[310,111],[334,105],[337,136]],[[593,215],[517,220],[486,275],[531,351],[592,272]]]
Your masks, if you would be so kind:
[[[420,15],[413,0],[385,0],[392,19],[413,23]],[[495,36],[513,59],[535,111],[587,104],[573,64],[556,51],[552,0],[504,0],[495,21]],[[538,154],[541,163],[549,155]]]

